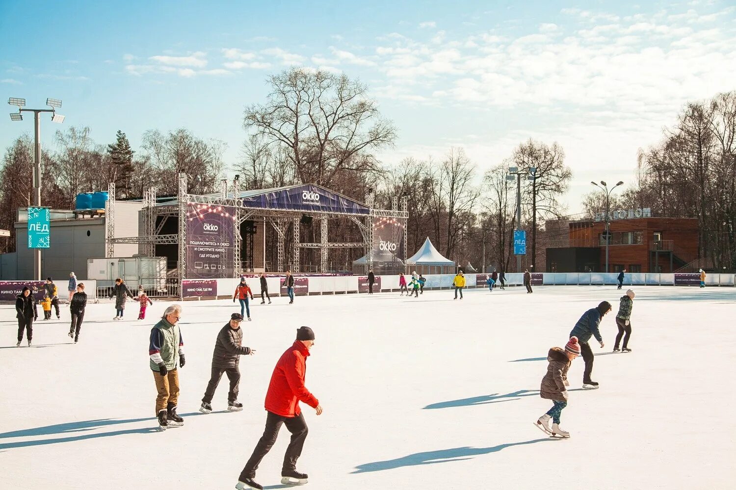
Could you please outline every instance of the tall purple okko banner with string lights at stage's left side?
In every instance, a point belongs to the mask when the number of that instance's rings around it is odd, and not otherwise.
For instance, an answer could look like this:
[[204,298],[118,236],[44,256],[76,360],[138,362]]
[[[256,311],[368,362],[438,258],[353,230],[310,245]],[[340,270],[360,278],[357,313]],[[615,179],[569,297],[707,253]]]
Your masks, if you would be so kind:
[[193,203],[188,204],[186,214],[186,278],[233,277],[235,209]]

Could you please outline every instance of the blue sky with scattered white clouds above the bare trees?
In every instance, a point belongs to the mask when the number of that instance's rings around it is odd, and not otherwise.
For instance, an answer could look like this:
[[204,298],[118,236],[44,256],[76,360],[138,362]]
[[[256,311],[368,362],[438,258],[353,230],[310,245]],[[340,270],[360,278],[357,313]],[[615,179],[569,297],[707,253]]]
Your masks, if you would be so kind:
[[[65,126],[90,126],[96,143],[121,129],[137,148],[146,129],[187,127],[236,162],[243,107],[297,64],[369,85],[400,131],[386,162],[455,145],[484,170],[528,137],[559,142],[570,212],[590,180],[632,181],[637,149],[686,101],[736,89],[727,1],[6,0],[0,29],[1,98],[60,98]],[[43,120],[45,143],[59,127]],[[0,118],[0,145],[24,131]]]

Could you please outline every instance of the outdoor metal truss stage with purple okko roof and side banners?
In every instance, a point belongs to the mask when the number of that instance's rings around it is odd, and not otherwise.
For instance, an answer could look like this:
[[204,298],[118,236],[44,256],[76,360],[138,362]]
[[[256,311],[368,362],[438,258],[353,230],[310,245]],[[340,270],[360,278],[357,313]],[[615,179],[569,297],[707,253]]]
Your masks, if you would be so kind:
[[[388,251],[403,261],[406,259],[408,219],[407,201],[397,209],[373,209],[374,195],[361,203],[317,184],[300,184],[275,189],[241,191],[235,179],[228,190],[223,181],[222,192],[194,195],[187,192],[187,176],[180,174],[177,195],[158,202],[156,190],[144,192],[141,211],[141,234],[138,237],[113,238],[114,220],[107,220],[106,250],[112,256],[115,243],[138,243],[141,254],[155,255],[155,245],[177,244],[177,275],[184,279],[233,278],[241,270],[241,223],[258,220],[270,223],[277,234],[277,264],[273,272],[284,272],[286,239],[291,228],[291,272],[299,273],[300,250],[319,249],[319,272],[328,270],[330,248],[363,248],[367,268],[373,257]],[[115,199],[115,185],[110,184],[110,201]],[[171,217],[178,219],[177,234],[162,234]],[[362,242],[330,242],[329,220],[347,217],[358,227]],[[300,223],[319,220],[319,242],[300,240]]]

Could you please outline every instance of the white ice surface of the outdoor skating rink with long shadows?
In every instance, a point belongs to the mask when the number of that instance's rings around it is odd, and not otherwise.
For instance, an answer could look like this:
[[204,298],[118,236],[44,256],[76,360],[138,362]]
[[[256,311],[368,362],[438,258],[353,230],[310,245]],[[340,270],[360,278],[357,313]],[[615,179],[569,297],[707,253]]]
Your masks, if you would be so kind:
[[[736,480],[733,375],[736,289],[636,287],[632,353],[612,353],[615,287],[537,287],[464,300],[448,290],[274,298],[252,304],[239,400],[227,379],[212,414],[197,412],[231,301],[183,303],[187,363],[180,370],[183,428],[155,430],[150,329],[169,304],[113,322],[112,303],[88,306],[79,344],[62,320],[38,321],[34,345],[15,347],[15,311],[0,306],[0,489],[233,489],[263,432],[263,400],[296,328],[314,328],[306,384],[325,408],[302,404],[310,432],[297,466],[309,489],[732,489]],[[564,347],[578,317],[609,300],[591,343],[593,379],[570,368],[562,428],[533,422],[547,351]],[[259,300],[255,301],[259,303]],[[289,433],[256,480],[280,485]]]

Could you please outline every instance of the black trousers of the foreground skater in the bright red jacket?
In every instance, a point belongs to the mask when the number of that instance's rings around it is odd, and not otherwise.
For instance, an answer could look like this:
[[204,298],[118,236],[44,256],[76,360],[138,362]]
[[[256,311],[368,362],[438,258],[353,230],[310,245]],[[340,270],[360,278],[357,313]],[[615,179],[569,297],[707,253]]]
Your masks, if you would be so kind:
[[297,469],[297,459],[302,455],[304,440],[307,439],[307,433],[309,432],[307,422],[304,420],[304,414],[299,414],[297,417],[281,417],[280,415],[268,412],[266,416],[266,430],[263,430],[261,440],[258,441],[253,454],[240,473],[240,481],[255,477],[255,470],[261,464],[263,456],[268,454],[269,450],[275,444],[278,431],[282,424],[286,425],[286,428],[291,432],[291,442],[289,442],[289,447],[286,448],[281,472],[289,472]]

